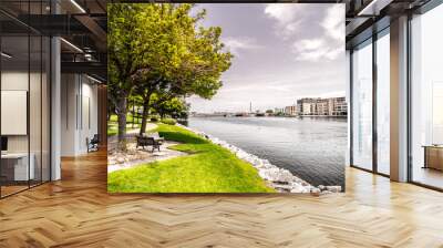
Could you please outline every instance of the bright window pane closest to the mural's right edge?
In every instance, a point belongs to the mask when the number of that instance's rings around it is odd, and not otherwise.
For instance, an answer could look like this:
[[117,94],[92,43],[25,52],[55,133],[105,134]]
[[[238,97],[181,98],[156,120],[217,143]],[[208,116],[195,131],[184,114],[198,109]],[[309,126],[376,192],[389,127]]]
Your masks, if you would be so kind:
[[352,53],[352,159],[372,169],[372,44]]

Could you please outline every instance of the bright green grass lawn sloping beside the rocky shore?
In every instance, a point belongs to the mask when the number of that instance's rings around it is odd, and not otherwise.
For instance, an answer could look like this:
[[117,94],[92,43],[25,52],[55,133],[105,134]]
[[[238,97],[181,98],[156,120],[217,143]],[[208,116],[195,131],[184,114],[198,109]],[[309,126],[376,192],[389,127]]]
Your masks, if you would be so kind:
[[178,126],[158,124],[153,132],[181,142],[171,148],[189,155],[107,175],[111,193],[272,193],[248,163],[228,149]]

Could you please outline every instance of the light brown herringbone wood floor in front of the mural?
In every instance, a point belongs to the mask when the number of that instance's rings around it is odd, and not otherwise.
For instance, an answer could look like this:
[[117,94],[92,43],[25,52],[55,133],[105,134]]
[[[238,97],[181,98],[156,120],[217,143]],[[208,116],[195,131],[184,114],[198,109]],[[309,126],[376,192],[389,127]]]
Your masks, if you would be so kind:
[[109,195],[106,156],[0,200],[0,247],[443,247],[443,194],[348,168],[347,193]]

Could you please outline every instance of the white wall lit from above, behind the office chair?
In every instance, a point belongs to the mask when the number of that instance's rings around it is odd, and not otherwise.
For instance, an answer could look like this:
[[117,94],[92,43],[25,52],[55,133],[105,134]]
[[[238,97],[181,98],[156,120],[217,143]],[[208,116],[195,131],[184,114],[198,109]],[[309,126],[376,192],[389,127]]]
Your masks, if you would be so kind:
[[78,156],[97,133],[97,86],[81,74],[62,74],[61,81],[61,155]]

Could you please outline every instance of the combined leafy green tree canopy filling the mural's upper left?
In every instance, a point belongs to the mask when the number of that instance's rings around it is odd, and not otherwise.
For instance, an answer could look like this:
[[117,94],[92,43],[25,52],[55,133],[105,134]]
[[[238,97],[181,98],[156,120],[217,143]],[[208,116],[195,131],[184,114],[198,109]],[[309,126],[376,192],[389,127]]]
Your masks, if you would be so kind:
[[[127,99],[143,101],[146,122],[155,95],[161,102],[198,95],[213,97],[233,55],[224,50],[222,28],[200,25],[206,11],[193,4],[109,4],[110,100],[125,125]],[[142,121],[142,132],[144,126]],[[124,128],[119,128],[124,133]],[[123,136],[123,135],[122,135]],[[121,137],[121,135],[119,135]]]

